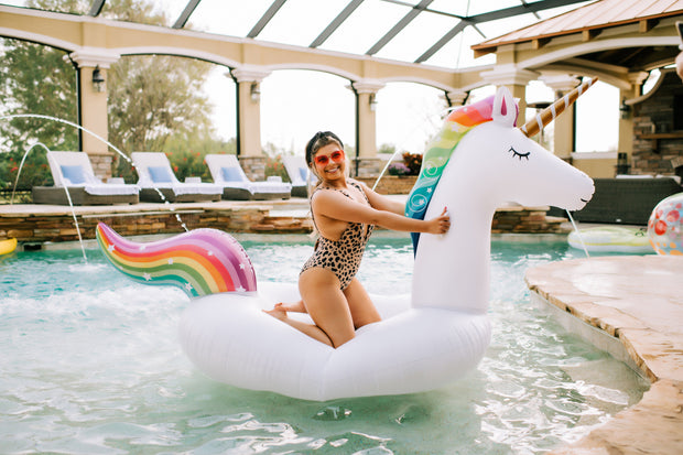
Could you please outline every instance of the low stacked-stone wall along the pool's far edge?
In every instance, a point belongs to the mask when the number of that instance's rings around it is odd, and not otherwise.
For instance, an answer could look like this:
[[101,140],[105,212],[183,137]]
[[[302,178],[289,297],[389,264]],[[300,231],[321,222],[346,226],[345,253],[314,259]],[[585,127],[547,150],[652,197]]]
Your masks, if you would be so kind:
[[[21,208],[22,206],[14,206]],[[78,240],[78,231],[68,207],[41,210],[26,206],[22,212],[0,212],[0,238],[17,238],[23,243]],[[172,207],[174,210],[170,210]],[[80,235],[95,238],[97,223],[108,224],[122,236],[182,232],[176,215],[188,229],[216,228],[228,232],[307,234],[313,223],[305,216],[270,216],[271,206],[205,203],[140,204],[131,206],[74,207]],[[550,217],[548,207],[502,207],[496,212],[491,232],[556,234],[563,232],[564,218]]]

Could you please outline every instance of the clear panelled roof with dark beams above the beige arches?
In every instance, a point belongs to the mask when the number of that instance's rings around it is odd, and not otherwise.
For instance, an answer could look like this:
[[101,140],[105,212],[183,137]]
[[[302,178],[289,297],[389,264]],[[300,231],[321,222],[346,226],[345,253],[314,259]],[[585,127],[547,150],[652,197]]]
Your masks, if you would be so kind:
[[[586,0],[148,0],[166,25],[447,68],[494,63],[470,46]],[[0,1],[31,8],[31,0]],[[113,20],[108,0],[59,10]]]

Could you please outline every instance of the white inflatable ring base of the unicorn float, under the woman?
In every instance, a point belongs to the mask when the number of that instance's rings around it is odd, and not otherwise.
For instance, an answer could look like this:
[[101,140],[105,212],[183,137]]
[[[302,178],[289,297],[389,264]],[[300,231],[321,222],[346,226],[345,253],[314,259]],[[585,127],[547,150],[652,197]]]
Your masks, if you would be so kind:
[[411,310],[408,296],[373,295],[383,321],[333,349],[262,313],[296,301],[295,285],[259,288],[258,297],[202,297],[183,314],[185,353],[218,381],[317,401],[418,392],[475,368],[490,337],[485,314]]

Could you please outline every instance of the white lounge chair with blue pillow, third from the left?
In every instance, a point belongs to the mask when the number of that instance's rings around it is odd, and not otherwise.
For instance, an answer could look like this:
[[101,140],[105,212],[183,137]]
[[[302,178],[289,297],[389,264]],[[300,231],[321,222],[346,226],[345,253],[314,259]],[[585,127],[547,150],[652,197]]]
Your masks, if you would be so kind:
[[289,199],[292,195],[292,185],[279,176],[262,182],[250,181],[235,155],[208,154],[206,164],[214,182],[223,187],[224,199]]

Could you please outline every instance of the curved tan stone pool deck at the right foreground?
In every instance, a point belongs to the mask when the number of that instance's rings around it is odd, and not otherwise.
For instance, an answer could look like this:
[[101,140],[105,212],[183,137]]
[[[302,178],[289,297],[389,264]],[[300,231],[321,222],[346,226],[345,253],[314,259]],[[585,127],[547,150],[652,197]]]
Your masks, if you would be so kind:
[[683,454],[683,258],[619,256],[552,262],[527,271],[534,300],[651,382],[633,407],[566,454]]

